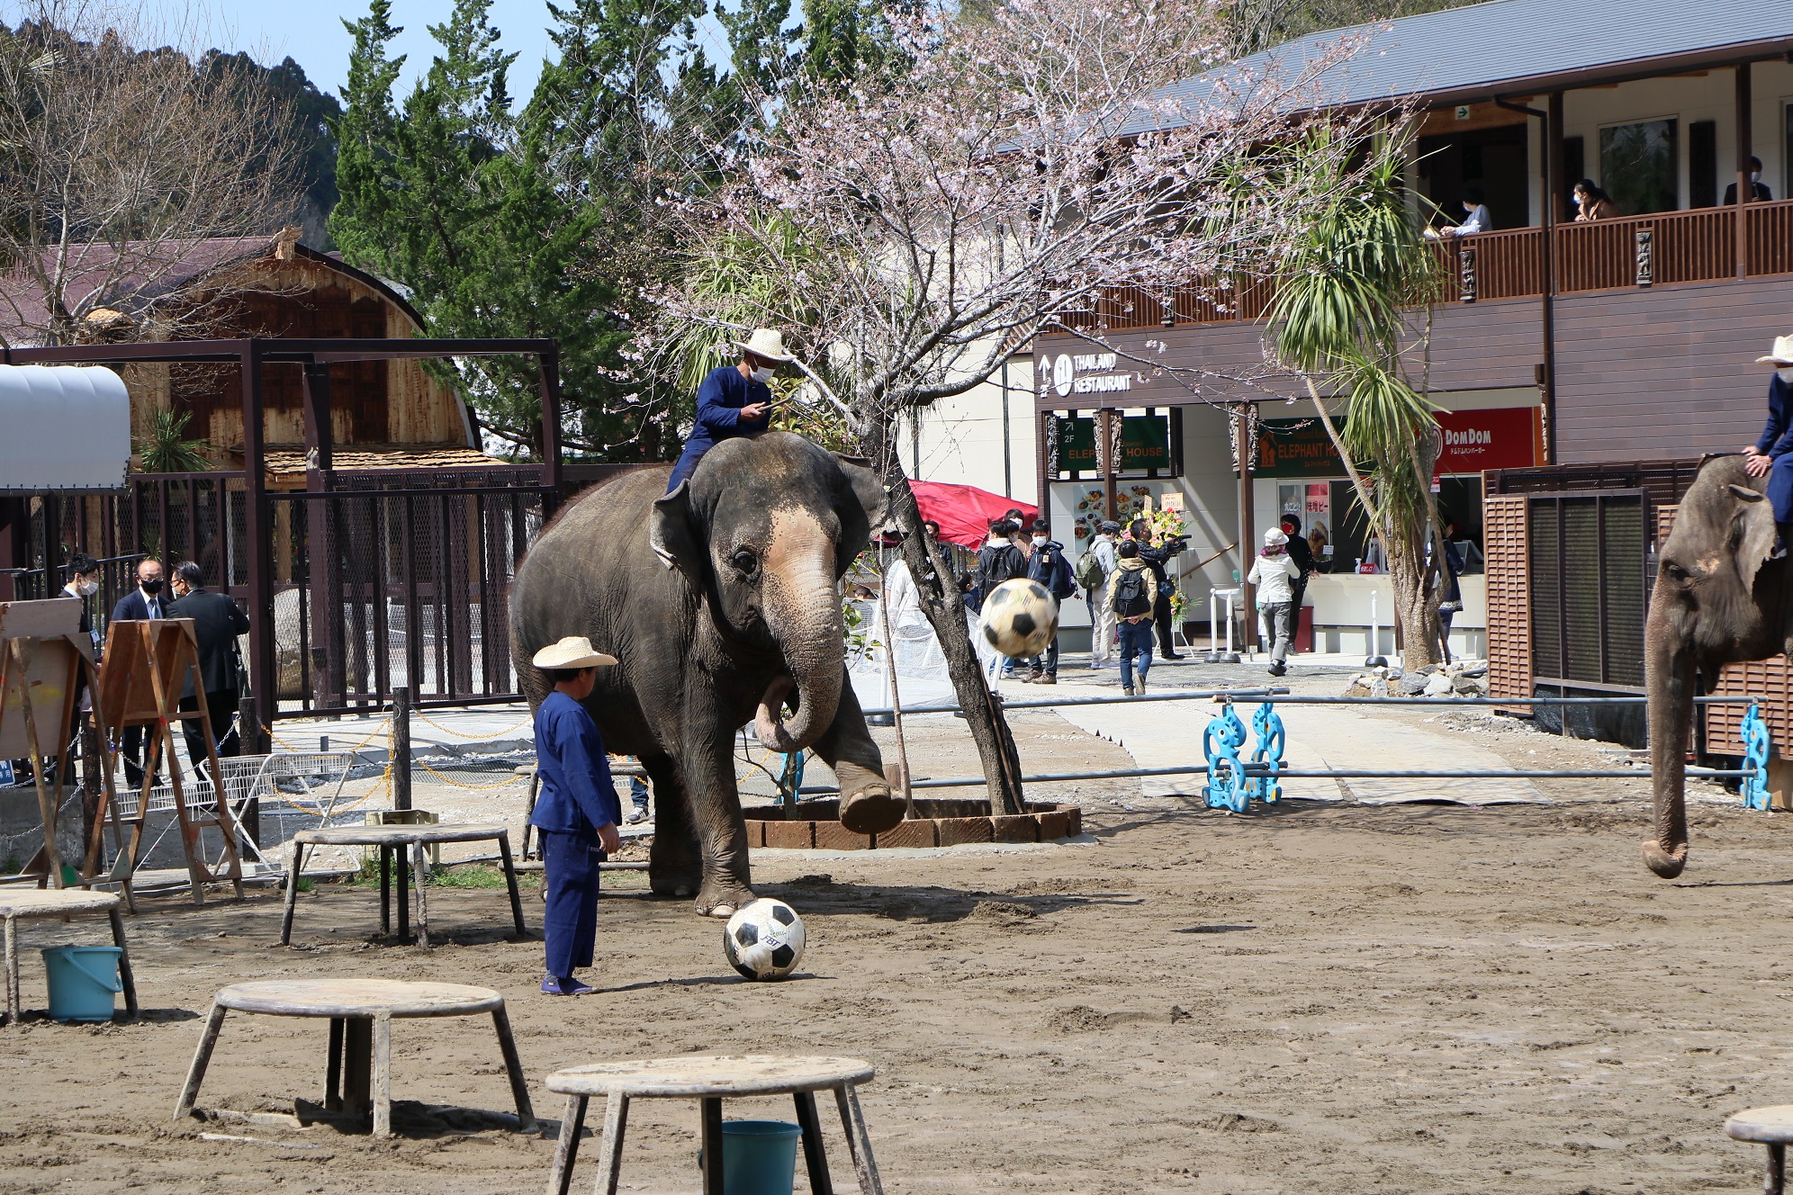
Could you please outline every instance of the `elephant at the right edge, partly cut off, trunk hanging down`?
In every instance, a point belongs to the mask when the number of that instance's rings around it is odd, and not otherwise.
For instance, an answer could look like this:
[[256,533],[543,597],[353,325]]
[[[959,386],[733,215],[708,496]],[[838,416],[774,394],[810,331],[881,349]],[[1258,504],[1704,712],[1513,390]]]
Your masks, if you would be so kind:
[[1775,552],[1768,478],[1743,457],[1711,457],[1675,512],[1644,620],[1655,837],[1644,865],[1673,880],[1687,865],[1687,731],[1694,677],[1711,692],[1728,663],[1793,649],[1788,557]]

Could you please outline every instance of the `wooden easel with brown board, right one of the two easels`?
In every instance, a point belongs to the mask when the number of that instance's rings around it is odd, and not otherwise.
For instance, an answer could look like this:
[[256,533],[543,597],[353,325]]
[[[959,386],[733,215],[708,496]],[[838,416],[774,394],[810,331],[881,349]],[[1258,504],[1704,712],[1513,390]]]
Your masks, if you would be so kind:
[[[197,709],[181,709],[183,681],[192,681]],[[127,819],[131,846],[120,853],[113,874],[126,880],[136,871],[138,855],[143,849],[143,824],[149,815],[149,790],[156,779],[158,765],[165,760],[169,781],[174,787],[174,815],[181,822],[181,847],[186,851],[186,876],[192,883],[194,903],[203,905],[204,885],[221,878],[228,878],[237,899],[242,899],[237,822],[230,815],[230,801],[224,799],[217,744],[212,742],[212,720],[206,713],[206,684],[199,674],[199,640],[194,636],[194,620],[120,620],[106,627],[106,654],[93,709],[102,715],[100,726],[109,731],[122,733],[126,727],[142,726],[149,735],[143,787],[136,797],[136,813]],[[186,808],[186,788],[181,783],[181,763],[174,756],[174,729],[170,726],[194,718],[199,718],[201,726],[206,727],[206,758],[212,763],[213,812],[201,817]],[[206,865],[199,842],[199,831],[206,828],[213,828],[224,837],[224,858],[228,860],[224,876],[213,874]]]

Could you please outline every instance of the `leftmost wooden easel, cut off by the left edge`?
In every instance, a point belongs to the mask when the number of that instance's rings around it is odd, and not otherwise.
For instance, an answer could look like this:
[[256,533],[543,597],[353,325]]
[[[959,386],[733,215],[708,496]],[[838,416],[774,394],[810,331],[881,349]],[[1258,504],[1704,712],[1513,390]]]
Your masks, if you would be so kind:
[[[56,846],[63,790],[68,783],[68,747],[74,735],[81,679],[99,692],[99,672],[81,634],[81,604],[68,598],[47,602],[0,602],[0,760],[30,756],[43,819],[43,846],[20,874],[36,876],[38,887],[63,887],[63,858]],[[99,711],[95,709],[95,718]],[[100,724],[100,774],[104,788],[93,817],[93,837],[81,867],[81,887],[93,885],[99,871],[100,833],[106,812],[115,810],[111,754]],[[48,749],[45,749],[48,735]],[[43,779],[45,760],[54,760],[54,790]],[[117,812],[113,838],[122,846]],[[129,883],[126,905],[134,912]]]

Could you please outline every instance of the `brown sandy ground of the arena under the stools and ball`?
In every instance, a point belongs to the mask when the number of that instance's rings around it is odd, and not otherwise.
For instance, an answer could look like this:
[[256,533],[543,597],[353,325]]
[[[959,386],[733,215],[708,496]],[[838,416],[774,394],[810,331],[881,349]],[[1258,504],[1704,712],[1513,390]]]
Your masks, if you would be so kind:
[[[1468,713],[1366,715],[1368,740],[1379,718],[1515,765],[1614,758]],[[963,774],[961,736],[947,718],[918,722],[916,772]],[[1051,713],[1017,715],[1017,738],[1029,767],[1124,765]],[[541,948],[506,939],[502,890],[436,889],[432,926],[448,942],[430,951],[377,944],[378,898],[362,887],[305,894],[296,950],[274,946],[276,894],[197,910],[154,898],[129,923],[142,1023],[0,1030],[0,1190],[541,1188],[554,1129],[502,1127],[507,1091],[479,1019],[398,1025],[394,1093],[439,1105],[402,1104],[400,1139],[174,1125],[212,991],[298,975],[500,989],[549,1118],[559,1107],[540,1079],[558,1066],[864,1057],[893,1195],[1759,1190],[1757,1148],[1721,1123],[1793,1100],[1793,964],[1773,932],[1793,903],[1789,822],[1702,804],[1693,865],[1666,883],[1639,862],[1642,779],[1542,787],[1556,804],[1286,803],[1230,817],[1130,781],[1065,785],[1035,795],[1083,801],[1083,844],[760,853],[760,890],[809,930],[800,975],[778,985],[737,980],[715,923],[620,876],[599,914],[602,993],[577,1002],[536,994]],[[102,933],[27,928],[32,1007],[36,948],[56,941]],[[317,1100],[323,1046],[319,1023],[233,1016],[201,1104],[240,1114]],[[775,1100],[730,1109],[789,1116]],[[624,1190],[697,1190],[696,1122],[694,1105],[638,1104]],[[827,1141],[846,1190],[837,1123]]]

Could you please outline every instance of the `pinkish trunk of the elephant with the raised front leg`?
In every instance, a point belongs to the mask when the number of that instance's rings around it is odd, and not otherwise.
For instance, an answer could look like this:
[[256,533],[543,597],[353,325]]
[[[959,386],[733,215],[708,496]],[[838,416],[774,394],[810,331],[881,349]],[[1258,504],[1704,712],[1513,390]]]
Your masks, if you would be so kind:
[[[834,577],[834,539],[812,520],[775,520],[764,568],[766,616],[791,675],[766,686],[755,729],[769,751],[793,752],[814,744],[834,724],[846,683],[846,625]],[[784,717],[793,688],[796,713]]]

